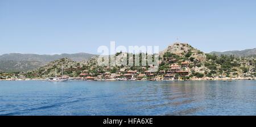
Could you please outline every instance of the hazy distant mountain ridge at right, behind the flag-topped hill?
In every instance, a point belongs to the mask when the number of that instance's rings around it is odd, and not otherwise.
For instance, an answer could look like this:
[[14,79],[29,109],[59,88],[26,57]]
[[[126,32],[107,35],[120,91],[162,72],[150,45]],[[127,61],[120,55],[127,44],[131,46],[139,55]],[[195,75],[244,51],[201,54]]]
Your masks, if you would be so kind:
[[234,55],[237,57],[247,57],[247,56],[256,55],[256,48],[245,49],[245,50],[231,50],[226,52],[210,52],[210,54],[216,54],[218,56],[220,56],[221,54],[226,54],[226,55]]

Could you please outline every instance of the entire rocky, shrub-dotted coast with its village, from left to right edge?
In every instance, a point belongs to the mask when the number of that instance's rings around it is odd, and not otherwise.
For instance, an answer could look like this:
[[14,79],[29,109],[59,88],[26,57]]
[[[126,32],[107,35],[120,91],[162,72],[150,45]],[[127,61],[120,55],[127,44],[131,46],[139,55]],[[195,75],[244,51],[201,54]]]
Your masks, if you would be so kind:
[[[118,53],[116,56],[127,55]],[[61,67],[64,75],[61,76]],[[98,66],[97,57],[76,62],[68,58],[21,73],[0,72],[0,80],[31,80],[62,77],[85,81],[186,81],[255,79],[254,58],[235,58],[205,54],[187,43],[174,43],[159,53],[158,71],[155,66]],[[57,72],[55,73],[55,70]]]

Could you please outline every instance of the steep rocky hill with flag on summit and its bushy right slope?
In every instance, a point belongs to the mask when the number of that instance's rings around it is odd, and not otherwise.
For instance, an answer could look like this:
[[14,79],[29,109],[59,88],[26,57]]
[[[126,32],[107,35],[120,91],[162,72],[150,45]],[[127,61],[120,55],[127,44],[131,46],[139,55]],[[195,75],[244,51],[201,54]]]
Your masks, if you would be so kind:
[[[255,77],[256,61],[253,58],[235,58],[224,55],[217,56],[214,54],[205,54],[200,50],[193,48],[188,44],[175,43],[164,50],[163,63],[160,67],[168,70],[168,66],[174,62],[167,61],[168,58],[174,57],[178,65],[181,62],[187,62],[189,67],[186,75],[187,79],[205,78],[248,78]],[[190,52],[190,53],[189,53]]]

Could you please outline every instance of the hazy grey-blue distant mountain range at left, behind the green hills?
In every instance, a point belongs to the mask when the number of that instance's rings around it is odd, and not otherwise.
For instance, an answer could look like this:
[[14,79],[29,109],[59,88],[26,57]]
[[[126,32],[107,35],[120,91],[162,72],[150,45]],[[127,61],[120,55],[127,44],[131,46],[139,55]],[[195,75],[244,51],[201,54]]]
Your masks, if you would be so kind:
[[20,53],[3,54],[0,56],[0,70],[6,72],[27,71],[45,65],[48,62],[59,60],[60,58],[70,58],[73,61],[86,61],[93,56],[97,55],[88,53],[55,55]]

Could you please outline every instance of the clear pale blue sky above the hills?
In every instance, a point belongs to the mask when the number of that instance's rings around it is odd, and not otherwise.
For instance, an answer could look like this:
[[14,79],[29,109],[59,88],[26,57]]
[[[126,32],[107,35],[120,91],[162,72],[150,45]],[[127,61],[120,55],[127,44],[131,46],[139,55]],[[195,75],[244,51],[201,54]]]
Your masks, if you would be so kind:
[[177,37],[204,52],[256,48],[256,1],[0,0],[0,54],[162,50]]

